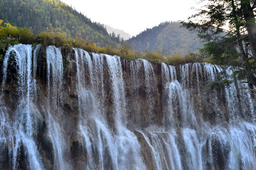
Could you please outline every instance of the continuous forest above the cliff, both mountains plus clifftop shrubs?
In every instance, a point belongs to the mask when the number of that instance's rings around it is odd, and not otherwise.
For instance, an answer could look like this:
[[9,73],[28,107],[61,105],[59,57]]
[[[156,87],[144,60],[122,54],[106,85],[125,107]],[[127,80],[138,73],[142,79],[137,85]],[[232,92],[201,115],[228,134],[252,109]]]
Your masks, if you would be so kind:
[[200,54],[189,54],[201,43],[179,22],[161,23],[124,42],[120,34],[108,34],[104,25],[60,0],[0,0],[0,61],[9,44],[18,43],[77,47],[171,65],[209,61]]

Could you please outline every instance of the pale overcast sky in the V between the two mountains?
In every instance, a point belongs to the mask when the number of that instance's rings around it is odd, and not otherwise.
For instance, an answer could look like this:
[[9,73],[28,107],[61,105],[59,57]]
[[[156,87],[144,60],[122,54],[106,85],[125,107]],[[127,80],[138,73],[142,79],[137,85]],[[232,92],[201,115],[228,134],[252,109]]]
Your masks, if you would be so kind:
[[186,20],[199,0],[62,0],[92,21],[136,35],[164,21]]

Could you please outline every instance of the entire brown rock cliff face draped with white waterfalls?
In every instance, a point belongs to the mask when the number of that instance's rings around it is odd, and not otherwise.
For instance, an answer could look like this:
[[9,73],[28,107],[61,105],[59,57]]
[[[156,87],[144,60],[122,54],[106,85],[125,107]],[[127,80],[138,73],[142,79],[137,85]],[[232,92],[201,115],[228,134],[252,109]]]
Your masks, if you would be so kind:
[[256,167],[255,99],[207,89],[219,66],[19,44],[1,69],[1,170]]

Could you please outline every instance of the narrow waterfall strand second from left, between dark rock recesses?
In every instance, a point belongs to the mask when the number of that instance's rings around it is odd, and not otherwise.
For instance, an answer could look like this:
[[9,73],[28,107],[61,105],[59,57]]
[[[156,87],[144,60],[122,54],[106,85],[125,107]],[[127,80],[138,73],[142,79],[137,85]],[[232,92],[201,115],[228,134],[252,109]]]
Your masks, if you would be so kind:
[[48,136],[53,144],[54,151],[54,169],[68,170],[68,163],[63,158],[63,148],[65,142],[62,137],[61,127],[57,121],[61,112],[58,105],[63,100],[62,96],[62,76],[63,76],[63,60],[59,48],[48,46],[46,49],[47,60],[47,98],[48,110],[53,110],[54,114],[47,111],[46,122],[48,126]]

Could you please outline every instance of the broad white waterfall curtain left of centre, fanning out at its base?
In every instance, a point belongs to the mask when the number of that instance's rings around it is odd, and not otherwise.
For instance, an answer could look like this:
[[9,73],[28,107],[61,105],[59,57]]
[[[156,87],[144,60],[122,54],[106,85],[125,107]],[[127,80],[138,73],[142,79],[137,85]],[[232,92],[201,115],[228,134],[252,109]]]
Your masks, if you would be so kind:
[[[90,103],[92,106],[87,108],[86,115],[81,115],[80,132],[84,136],[84,148],[87,150],[87,169],[104,169],[108,166],[111,169],[123,170],[144,169],[144,165],[138,153],[140,150],[139,142],[136,136],[125,127],[125,97],[121,59],[117,56],[99,55],[93,53],[93,59],[86,51],[74,49],[76,54],[76,67],[78,79],[78,100],[80,114],[84,114],[86,106]],[[85,64],[85,66],[84,66]],[[89,85],[85,85],[84,74],[81,74],[83,68],[88,68]],[[107,75],[109,89],[104,91],[104,76]],[[83,89],[83,90],[82,90]],[[81,93],[81,94],[80,94]],[[101,95],[100,95],[101,94]],[[98,97],[104,97],[104,94],[110,97],[111,115],[107,115],[104,109],[99,107],[105,105],[104,100]],[[96,103],[98,102],[98,103]],[[107,103],[109,104],[109,103]],[[107,120],[114,120],[114,133],[108,127]],[[89,124],[88,121],[92,121]],[[95,128],[93,128],[95,127]],[[97,142],[91,142],[96,138]],[[93,155],[94,148],[98,149],[97,162]],[[105,152],[109,155],[106,155]],[[109,161],[109,162],[106,162]],[[99,165],[97,165],[99,164]],[[140,165],[140,166],[138,166]]]

